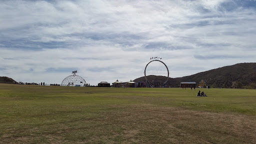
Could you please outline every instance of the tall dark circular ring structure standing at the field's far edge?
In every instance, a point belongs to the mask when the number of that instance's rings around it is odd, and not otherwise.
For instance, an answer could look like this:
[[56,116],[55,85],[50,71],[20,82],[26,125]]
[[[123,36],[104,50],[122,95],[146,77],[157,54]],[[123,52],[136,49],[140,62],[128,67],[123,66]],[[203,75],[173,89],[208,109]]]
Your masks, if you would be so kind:
[[151,60],[144,69],[144,76],[150,87],[161,87],[169,78],[169,69],[161,60]]

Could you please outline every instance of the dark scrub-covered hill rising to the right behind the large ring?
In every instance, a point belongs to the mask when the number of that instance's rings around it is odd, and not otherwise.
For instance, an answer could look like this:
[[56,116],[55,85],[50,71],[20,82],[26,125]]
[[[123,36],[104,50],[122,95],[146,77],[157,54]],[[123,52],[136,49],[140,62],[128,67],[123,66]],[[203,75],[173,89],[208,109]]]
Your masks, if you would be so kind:
[[[163,77],[164,76],[155,76],[155,79],[162,79]],[[193,81],[198,85],[201,79],[206,82],[206,85],[210,85],[211,87],[256,88],[256,63],[237,63],[189,76],[169,78],[166,84],[170,87],[179,87],[180,82]],[[142,76],[134,79],[133,81],[145,81],[145,78]]]

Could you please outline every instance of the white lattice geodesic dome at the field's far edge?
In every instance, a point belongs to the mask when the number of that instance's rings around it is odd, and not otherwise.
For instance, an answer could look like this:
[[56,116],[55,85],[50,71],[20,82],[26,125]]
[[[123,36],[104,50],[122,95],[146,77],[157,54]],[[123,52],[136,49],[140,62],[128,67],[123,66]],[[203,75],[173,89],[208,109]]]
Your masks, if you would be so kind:
[[79,75],[75,73],[64,78],[60,86],[85,86],[86,81]]

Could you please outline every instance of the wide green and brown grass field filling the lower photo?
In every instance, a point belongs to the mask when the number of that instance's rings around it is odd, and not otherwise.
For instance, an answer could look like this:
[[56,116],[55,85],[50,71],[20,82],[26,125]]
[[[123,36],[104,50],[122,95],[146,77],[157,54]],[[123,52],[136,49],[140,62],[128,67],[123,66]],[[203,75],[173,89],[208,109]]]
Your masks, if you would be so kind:
[[0,84],[0,143],[256,143],[256,89]]

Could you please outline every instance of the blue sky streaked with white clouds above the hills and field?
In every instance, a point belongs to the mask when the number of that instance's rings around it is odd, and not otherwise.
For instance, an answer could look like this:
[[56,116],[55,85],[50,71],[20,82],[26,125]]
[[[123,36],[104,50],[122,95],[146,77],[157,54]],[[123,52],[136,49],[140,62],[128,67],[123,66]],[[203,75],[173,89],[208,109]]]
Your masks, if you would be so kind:
[[0,76],[90,85],[255,62],[256,0],[0,0]]

